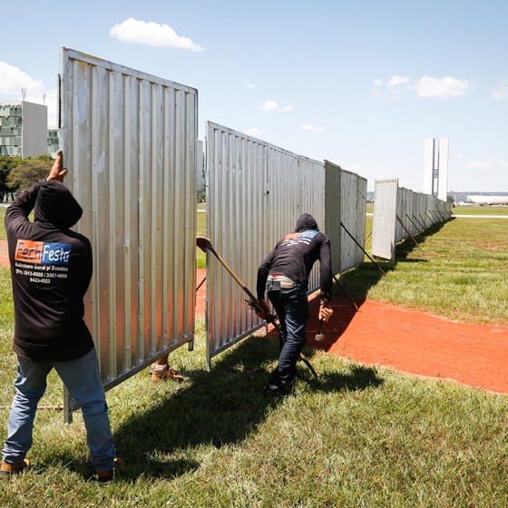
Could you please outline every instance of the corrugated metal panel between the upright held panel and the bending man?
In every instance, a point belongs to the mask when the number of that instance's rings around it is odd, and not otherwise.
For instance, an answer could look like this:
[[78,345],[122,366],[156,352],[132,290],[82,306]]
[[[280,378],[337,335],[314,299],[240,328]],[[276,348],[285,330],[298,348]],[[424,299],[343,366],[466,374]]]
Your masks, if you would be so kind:
[[[207,235],[230,269],[255,293],[259,261],[265,251],[267,147],[207,122],[206,161],[209,178]],[[261,321],[217,259],[207,259],[207,356],[214,356]]]

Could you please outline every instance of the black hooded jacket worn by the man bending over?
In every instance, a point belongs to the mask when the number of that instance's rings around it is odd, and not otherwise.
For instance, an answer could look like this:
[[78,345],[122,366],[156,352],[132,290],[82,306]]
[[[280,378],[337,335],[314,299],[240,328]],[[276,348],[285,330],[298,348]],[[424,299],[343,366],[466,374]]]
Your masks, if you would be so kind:
[[278,241],[259,266],[258,298],[264,298],[269,275],[285,275],[308,290],[308,275],[318,259],[321,300],[330,300],[332,289],[330,240],[325,233],[319,231],[314,217],[309,213],[303,213],[298,217],[295,232]]

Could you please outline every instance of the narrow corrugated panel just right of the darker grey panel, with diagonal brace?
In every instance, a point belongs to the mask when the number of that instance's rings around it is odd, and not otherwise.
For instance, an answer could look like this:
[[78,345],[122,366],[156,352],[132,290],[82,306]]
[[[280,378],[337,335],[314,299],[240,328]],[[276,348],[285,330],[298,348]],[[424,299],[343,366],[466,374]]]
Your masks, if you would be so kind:
[[340,272],[356,267],[364,260],[366,233],[366,179],[341,170]]

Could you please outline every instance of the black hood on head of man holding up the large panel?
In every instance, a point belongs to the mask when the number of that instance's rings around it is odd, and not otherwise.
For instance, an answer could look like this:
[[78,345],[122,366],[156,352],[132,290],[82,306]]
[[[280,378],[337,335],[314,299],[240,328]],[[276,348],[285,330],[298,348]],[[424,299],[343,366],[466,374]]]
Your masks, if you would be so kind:
[[83,209],[61,181],[44,181],[35,200],[35,220],[50,222],[57,228],[71,228],[83,215]]

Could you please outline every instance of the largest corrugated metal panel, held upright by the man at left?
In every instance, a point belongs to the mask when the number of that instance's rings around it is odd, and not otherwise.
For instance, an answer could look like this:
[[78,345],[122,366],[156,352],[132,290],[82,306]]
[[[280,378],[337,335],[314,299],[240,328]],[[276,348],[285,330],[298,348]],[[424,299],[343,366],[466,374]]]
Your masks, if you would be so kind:
[[193,337],[198,96],[65,48],[61,79],[65,164],[93,245],[86,319],[109,387]]

